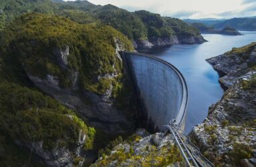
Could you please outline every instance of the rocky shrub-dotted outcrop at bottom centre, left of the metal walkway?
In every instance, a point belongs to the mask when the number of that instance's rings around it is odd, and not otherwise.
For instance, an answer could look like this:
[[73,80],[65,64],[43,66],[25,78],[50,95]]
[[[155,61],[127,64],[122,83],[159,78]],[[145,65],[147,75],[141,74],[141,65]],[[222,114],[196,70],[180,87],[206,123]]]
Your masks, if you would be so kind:
[[119,141],[92,166],[184,166],[171,134],[149,135],[139,129],[131,140]]

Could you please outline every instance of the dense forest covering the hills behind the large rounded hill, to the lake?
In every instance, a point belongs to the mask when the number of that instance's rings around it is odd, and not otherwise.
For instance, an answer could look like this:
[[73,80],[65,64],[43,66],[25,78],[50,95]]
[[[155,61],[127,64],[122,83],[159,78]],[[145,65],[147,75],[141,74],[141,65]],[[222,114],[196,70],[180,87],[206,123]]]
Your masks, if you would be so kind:
[[56,14],[78,23],[101,21],[137,41],[158,37],[191,37],[200,31],[180,19],[162,17],[148,11],[129,12],[113,5],[93,5],[88,1],[3,0],[0,3],[0,29],[26,12]]

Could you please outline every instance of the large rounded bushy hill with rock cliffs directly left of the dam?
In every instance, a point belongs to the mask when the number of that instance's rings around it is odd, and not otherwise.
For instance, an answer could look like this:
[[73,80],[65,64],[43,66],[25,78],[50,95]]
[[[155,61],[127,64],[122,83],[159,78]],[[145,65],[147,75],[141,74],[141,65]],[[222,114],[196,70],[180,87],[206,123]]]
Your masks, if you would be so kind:
[[[133,50],[112,27],[80,25],[52,15],[23,15],[12,26],[9,51],[38,88],[108,133],[132,130],[132,92],[118,51]],[[131,107],[129,107],[131,106]],[[133,112],[131,112],[133,111]],[[103,114],[104,113],[104,114]]]

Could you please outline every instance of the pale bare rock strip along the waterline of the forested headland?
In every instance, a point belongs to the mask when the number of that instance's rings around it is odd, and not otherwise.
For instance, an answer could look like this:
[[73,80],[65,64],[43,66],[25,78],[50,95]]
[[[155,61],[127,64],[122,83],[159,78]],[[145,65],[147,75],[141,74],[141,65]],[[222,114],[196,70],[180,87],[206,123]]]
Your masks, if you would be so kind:
[[193,44],[193,43],[204,43],[206,40],[202,35],[189,36],[189,37],[155,37],[149,40],[137,40],[133,41],[135,48],[151,48],[151,47],[163,47],[170,45],[177,45],[180,43]]

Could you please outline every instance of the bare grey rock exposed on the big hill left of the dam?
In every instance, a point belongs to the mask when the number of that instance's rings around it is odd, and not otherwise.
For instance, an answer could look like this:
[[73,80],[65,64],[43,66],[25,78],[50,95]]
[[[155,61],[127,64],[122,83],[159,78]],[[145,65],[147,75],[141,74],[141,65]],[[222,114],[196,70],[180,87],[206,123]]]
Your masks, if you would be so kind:
[[[116,53],[115,56],[121,59],[119,51],[123,50],[122,43],[115,39]],[[54,49],[54,54],[58,57],[60,65],[66,68],[66,61],[68,56],[68,46],[65,51]],[[113,64],[115,69],[115,64]],[[78,71],[72,71],[72,88],[61,88],[59,85],[58,77],[53,75],[46,75],[46,79],[38,76],[29,75],[29,79],[43,92],[54,97],[56,100],[82,114],[86,123],[90,126],[100,128],[108,134],[126,133],[134,129],[135,122],[128,120],[125,114],[119,110],[114,104],[115,99],[111,98],[113,86],[105,92],[105,94],[99,95],[86,90],[78,90]],[[107,78],[112,79],[118,76],[118,73],[107,73],[106,75],[99,75],[97,79]],[[134,120],[135,121],[135,120]]]

